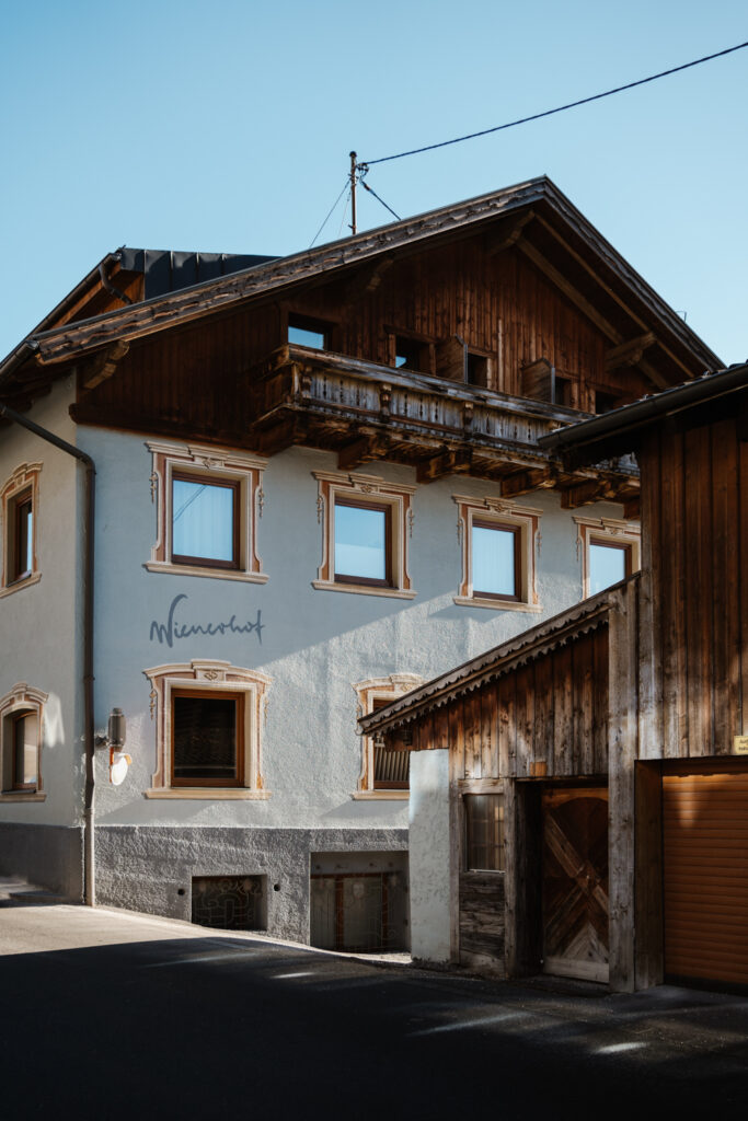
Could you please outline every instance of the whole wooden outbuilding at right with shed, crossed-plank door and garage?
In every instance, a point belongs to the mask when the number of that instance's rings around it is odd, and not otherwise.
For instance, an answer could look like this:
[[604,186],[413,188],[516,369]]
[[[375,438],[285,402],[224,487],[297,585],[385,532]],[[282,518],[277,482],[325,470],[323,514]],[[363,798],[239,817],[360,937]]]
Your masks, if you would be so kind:
[[361,722],[449,754],[451,960],[748,984],[747,439],[745,365],[547,437],[636,452],[641,573]]

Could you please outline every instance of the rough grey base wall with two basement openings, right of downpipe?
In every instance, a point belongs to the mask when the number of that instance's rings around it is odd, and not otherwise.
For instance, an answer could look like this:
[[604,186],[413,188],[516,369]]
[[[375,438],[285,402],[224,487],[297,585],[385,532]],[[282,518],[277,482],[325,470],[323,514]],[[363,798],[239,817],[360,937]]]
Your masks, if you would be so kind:
[[96,827],[96,901],[339,949],[406,949],[407,830]]

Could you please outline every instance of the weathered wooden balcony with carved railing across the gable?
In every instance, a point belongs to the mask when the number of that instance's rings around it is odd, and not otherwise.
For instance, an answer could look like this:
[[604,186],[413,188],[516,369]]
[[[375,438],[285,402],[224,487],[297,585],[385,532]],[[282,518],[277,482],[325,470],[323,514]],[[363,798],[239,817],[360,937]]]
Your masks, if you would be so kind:
[[336,451],[341,471],[394,460],[422,483],[463,473],[501,480],[505,497],[560,489],[564,506],[609,499],[636,515],[632,456],[569,472],[538,448],[541,436],[588,416],[575,409],[294,344],[247,380],[249,437],[261,454],[302,444]]

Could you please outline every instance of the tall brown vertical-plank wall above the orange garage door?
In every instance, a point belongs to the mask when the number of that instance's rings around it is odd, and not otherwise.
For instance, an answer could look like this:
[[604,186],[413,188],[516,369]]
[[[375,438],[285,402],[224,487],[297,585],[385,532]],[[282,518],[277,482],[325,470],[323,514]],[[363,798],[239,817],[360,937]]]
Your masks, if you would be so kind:
[[640,452],[653,633],[641,673],[655,701],[643,758],[724,754],[735,735],[748,732],[742,408],[742,417],[659,432]]

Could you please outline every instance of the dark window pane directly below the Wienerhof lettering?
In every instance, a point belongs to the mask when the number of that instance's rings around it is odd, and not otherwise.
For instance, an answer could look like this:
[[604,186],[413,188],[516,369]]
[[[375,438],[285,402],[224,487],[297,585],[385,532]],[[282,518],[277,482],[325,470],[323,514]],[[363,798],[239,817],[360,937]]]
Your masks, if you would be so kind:
[[236,779],[237,702],[174,697],[174,778]]

